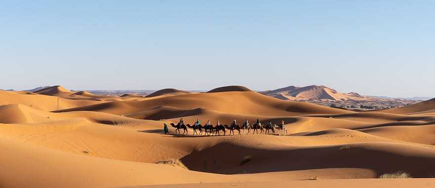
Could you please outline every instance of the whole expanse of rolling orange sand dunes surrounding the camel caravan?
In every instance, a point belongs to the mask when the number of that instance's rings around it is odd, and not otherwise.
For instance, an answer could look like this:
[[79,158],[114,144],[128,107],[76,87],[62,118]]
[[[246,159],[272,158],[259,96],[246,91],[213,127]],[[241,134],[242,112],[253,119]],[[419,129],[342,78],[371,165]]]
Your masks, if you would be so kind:
[[[226,130],[205,136],[192,135],[192,129],[178,135],[171,126],[165,135],[164,123],[180,118],[190,125],[210,120],[214,126],[218,120],[227,125],[234,119],[240,124],[258,119],[262,125],[284,120],[288,135],[278,136],[276,129],[274,135],[236,130],[228,136]],[[148,97],[69,93],[59,86],[35,93],[0,91],[0,149],[7,153],[0,155],[0,187],[286,185],[395,172],[431,178],[434,135],[434,100],[352,112],[239,86],[199,94],[165,89]]]

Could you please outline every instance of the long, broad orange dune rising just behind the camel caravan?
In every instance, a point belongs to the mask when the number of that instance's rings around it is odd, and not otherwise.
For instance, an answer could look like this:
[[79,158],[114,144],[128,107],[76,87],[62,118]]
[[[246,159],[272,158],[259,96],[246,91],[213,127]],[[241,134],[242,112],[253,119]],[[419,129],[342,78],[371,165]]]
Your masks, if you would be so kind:
[[262,116],[351,113],[351,111],[310,104],[307,102],[282,101],[256,92],[183,94],[134,102],[107,102],[62,109],[56,112],[101,111],[116,115],[129,115],[159,106],[172,106],[186,109],[201,107],[224,113]]

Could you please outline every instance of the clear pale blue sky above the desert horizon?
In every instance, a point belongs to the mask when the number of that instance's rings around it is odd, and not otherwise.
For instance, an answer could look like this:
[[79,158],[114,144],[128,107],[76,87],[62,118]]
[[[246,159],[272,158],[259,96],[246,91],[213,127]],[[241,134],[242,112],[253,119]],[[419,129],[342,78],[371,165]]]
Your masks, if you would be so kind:
[[435,96],[433,0],[0,1],[0,89]]

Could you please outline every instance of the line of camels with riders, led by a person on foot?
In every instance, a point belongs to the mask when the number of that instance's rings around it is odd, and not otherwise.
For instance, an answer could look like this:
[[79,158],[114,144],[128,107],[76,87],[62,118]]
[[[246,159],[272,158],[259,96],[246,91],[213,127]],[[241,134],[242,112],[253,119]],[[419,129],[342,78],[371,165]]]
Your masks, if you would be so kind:
[[[219,123],[219,121],[217,121],[216,126],[213,126],[210,121],[207,121],[205,125],[201,125],[199,119],[193,125],[185,125],[183,118],[181,118],[176,125],[174,123],[171,123],[170,125],[175,128],[175,134],[178,135],[181,135],[180,130],[183,130],[182,135],[188,135],[187,128],[193,130],[192,135],[204,134],[204,136],[220,136],[220,131],[222,131],[223,135],[225,136],[227,130],[229,131],[228,135],[231,135],[231,133],[235,135],[234,130],[237,130],[239,135],[242,135],[242,132],[243,135],[246,135],[251,133],[251,131],[252,134],[259,134],[259,130],[260,134],[264,133],[275,135],[275,130],[277,130],[279,136],[281,136],[281,131],[284,132],[284,135],[287,135],[287,129],[285,127],[284,120],[281,121],[280,125],[272,124],[272,121],[269,121],[266,125],[262,125],[260,120],[257,119],[257,123],[254,124],[250,124],[248,120],[246,120],[245,123],[242,124],[242,126],[240,126],[236,120],[234,120],[230,126],[222,125]],[[164,131],[165,134],[169,134],[168,125],[166,123],[164,123]]]

